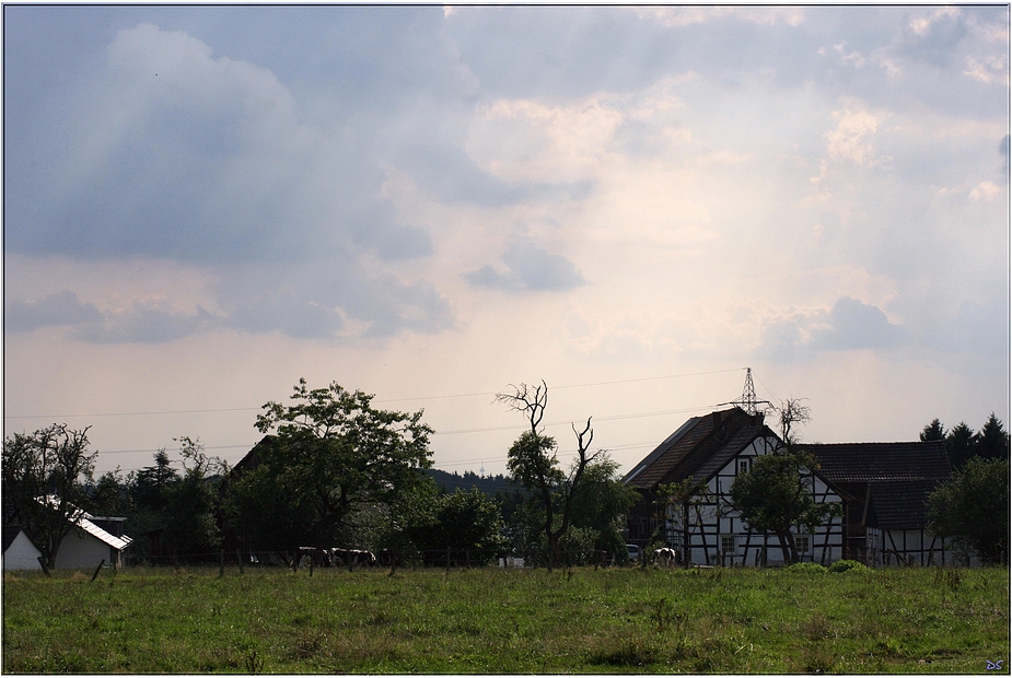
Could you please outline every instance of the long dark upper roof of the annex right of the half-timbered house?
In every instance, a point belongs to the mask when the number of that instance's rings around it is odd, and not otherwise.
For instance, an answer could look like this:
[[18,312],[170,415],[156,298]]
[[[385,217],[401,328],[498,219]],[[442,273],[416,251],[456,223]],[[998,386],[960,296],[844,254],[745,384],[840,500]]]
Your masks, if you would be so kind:
[[949,457],[942,441],[927,443],[831,443],[801,445],[818,458],[830,482],[944,480]]

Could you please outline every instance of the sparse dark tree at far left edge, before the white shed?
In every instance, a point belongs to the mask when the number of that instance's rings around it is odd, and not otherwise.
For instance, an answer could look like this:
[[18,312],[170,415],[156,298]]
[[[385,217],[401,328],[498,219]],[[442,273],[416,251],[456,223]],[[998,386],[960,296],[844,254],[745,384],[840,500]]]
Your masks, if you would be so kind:
[[92,479],[97,456],[88,449],[90,428],[53,424],[3,441],[3,495],[47,568],[56,565],[63,537],[89,506],[84,483]]

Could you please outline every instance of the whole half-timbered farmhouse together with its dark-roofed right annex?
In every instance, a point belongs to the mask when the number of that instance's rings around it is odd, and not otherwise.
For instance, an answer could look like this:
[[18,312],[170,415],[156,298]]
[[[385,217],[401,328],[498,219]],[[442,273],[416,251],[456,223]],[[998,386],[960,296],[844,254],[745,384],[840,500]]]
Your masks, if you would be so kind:
[[[694,564],[779,564],[772,535],[749,531],[731,506],[734,479],[759,455],[782,447],[764,414],[735,407],[694,417],[658,445],[623,479],[641,500],[629,516],[629,540],[641,547],[660,537]],[[803,478],[817,502],[837,504],[815,534],[794,535],[802,561],[829,564],[842,558],[869,564],[942,563],[952,554],[927,530],[927,495],[949,477],[941,443],[804,445],[819,468]],[[659,515],[659,486],[688,478],[706,491],[668,504]]]

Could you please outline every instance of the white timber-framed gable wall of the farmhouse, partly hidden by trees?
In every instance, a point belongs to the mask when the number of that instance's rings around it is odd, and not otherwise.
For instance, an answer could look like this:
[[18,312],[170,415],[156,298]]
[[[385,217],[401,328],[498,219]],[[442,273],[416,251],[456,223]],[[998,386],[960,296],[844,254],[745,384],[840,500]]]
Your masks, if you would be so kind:
[[[754,460],[776,448],[771,439],[756,439],[707,483],[709,496],[689,506],[688,541],[691,563],[703,565],[776,565],[783,563],[780,541],[773,535],[749,533],[737,511],[731,506],[731,484],[747,472]],[[840,496],[816,476],[806,479],[816,501],[840,503]],[[666,541],[685,552],[685,507],[672,505],[666,515]],[[807,542],[800,553],[803,561],[829,564],[842,558],[844,522],[835,517],[812,535],[799,535],[795,543]]]

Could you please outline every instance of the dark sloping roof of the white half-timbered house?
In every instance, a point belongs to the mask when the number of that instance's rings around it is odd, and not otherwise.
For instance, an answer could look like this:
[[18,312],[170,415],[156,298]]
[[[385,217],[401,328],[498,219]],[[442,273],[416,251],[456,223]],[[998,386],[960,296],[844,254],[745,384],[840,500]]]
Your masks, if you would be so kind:
[[760,435],[773,436],[761,414],[741,408],[693,417],[658,445],[623,481],[642,490],[694,476],[710,478]]

